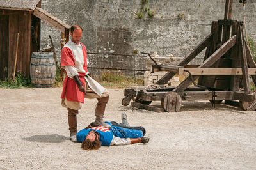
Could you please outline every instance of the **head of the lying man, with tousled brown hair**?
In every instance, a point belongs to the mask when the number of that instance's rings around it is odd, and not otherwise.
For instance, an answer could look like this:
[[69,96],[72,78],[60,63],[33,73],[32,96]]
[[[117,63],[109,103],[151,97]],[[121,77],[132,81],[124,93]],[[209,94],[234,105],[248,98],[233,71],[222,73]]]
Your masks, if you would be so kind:
[[94,130],[91,130],[84,139],[82,143],[82,148],[84,150],[98,150],[101,146],[101,142],[99,141],[99,134]]

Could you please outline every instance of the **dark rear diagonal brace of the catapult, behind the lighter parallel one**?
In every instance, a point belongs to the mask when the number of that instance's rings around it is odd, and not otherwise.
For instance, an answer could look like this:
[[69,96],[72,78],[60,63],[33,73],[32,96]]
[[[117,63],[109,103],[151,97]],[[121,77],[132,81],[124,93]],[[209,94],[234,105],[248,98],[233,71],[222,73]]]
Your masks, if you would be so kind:
[[[209,43],[212,40],[213,33],[211,33],[209,36],[207,36],[199,45],[195,47],[195,49],[188,55],[186,58],[182,59],[180,61],[178,66],[186,66],[192,59],[194,59],[202,50],[205,49],[209,45]],[[166,84],[172,77],[175,75],[175,73],[168,72],[166,73],[159,81],[156,82],[156,84]]]

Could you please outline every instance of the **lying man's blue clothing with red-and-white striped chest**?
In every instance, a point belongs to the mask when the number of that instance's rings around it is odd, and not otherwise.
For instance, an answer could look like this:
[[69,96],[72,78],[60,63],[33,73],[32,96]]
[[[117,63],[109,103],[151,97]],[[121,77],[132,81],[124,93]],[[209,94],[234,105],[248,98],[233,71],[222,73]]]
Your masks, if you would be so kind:
[[[111,125],[110,122],[106,121]],[[101,146],[110,146],[110,143],[113,139],[113,136],[120,137],[120,138],[138,138],[143,137],[143,132],[141,130],[134,130],[122,127],[116,127],[111,125],[108,129],[106,127],[92,127],[89,129],[82,129],[76,134],[77,142],[81,143],[86,138],[86,135],[91,131],[95,130],[99,134],[99,140],[101,141]]]

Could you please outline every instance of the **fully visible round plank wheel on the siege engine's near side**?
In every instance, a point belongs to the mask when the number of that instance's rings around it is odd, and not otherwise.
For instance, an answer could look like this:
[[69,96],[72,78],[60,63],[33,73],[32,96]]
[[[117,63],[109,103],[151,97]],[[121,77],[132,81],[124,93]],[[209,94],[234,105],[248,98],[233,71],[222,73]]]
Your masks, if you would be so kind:
[[175,92],[166,93],[161,101],[161,105],[166,112],[177,112],[181,108],[181,97]]

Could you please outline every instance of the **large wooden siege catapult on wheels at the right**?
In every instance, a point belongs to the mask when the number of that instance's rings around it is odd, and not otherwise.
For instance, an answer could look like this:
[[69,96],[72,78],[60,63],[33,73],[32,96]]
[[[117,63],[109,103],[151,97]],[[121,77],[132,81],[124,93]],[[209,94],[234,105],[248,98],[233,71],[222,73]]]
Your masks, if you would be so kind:
[[[249,75],[255,84],[256,64],[244,40],[243,22],[232,20],[232,4],[233,0],[226,0],[224,20],[213,21],[210,35],[177,66],[152,66],[154,72],[168,72],[152,88],[125,89],[123,105],[129,105],[134,99],[134,107],[157,112],[177,112],[182,100],[209,100],[213,108],[225,100],[225,104],[239,104],[245,111],[255,110],[256,97],[250,91]],[[203,63],[197,68],[186,67],[205,48]],[[184,72],[189,73],[189,76],[179,86],[166,86],[175,74]],[[161,101],[161,107],[155,106],[154,101]]]

